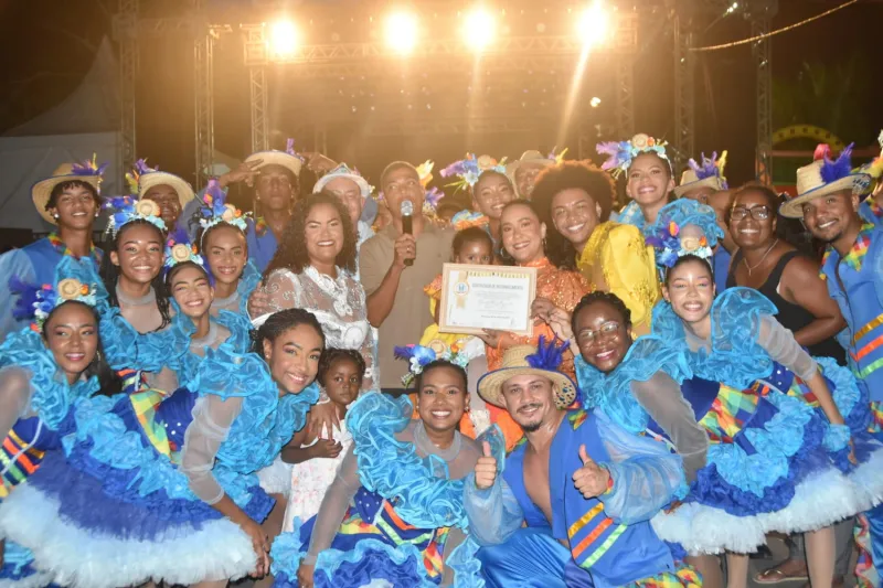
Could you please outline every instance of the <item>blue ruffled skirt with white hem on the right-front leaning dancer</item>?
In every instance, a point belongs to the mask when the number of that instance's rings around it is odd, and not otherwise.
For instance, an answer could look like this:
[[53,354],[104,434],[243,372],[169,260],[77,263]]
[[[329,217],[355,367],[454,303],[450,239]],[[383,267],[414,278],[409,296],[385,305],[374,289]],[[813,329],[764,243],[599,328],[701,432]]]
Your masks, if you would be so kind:
[[[752,553],[766,533],[813,531],[864,510],[868,501],[837,467],[826,421],[811,406],[773,389],[740,416],[732,440],[710,446],[684,504],[652,520],[661,538],[690,554]],[[857,446],[871,466],[866,449]],[[862,466],[859,473],[872,471]]]

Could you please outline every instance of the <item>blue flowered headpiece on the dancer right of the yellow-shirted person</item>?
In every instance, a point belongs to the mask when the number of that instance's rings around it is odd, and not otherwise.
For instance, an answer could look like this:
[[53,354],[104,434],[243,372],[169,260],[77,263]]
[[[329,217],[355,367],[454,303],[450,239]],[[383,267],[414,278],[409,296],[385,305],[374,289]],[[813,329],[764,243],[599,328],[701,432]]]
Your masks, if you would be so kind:
[[[688,225],[698,227],[702,235],[684,237],[682,232]],[[684,255],[710,259],[712,248],[724,237],[714,209],[688,199],[666,204],[647,233],[647,244],[656,249],[656,265],[660,268],[672,267]]]

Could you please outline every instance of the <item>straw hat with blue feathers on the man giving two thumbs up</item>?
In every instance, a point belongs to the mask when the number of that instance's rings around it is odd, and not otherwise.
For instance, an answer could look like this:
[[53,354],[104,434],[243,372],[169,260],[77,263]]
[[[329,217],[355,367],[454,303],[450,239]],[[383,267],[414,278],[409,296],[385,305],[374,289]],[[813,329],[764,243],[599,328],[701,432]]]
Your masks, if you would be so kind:
[[509,378],[521,375],[541,375],[552,382],[555,406],[565,409],[576,399],[576,384],[558,372],[562,355],[567,344],[553,340],[546,343],[541,336],[538,346],[517,345],[503,353],[502,367],[485,374],[478,381],[478,394],[485,402],[506,407],[503,384]]

